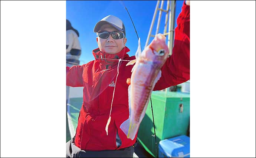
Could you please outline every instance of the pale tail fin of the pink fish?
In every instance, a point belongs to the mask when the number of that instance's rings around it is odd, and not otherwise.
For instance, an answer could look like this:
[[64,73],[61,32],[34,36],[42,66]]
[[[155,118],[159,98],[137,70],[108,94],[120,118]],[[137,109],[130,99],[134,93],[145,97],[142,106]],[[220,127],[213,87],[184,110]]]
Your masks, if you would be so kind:
[[127,138],[133,140],[135,138],[135,135],[137,134],[139,124],[131,121],[131,119],[129,118],[121,124],[120,128],[125,133]]

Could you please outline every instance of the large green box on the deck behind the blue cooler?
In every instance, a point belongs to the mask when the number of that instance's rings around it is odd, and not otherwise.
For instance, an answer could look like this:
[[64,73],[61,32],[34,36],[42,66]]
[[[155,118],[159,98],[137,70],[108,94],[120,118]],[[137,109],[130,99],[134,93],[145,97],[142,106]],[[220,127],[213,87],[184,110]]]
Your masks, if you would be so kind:
[[157,157],[160,140],[187,135],[190,121],[190,94],[181,92],[153,91],[151,95],[155,133],[149,102],[145,117],[138,131],[138,141],[154,157]]

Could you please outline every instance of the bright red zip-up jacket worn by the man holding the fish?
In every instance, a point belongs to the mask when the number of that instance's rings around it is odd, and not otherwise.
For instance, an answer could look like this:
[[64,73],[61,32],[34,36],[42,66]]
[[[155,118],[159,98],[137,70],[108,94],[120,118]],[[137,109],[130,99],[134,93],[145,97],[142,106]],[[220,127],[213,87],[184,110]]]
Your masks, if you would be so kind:
[[[190,79],[190,7],[183,4],[177,19],[173,54],[167,58],[161,68],[162,76],[155,84],[154,90],[163,90],[171,85],[177,85]],[[83,150],[99,151],[126,148],[133,145],[134,140],[128,139],[119,128],[129,117],[127,78],[131,77],[133,65],[125,66],[128,61],[121,61],[119,75],[117,74],[118,59],[134,60],[129,57],[125,47],[117,54],[92,51],[95,60],[84,65],[66,67],[66,85],[83,87],[83,103],[78,117],[75,145]],[[102,59],[101,59],[102,58]],[[108,59],[104,59],[108,58]],[[105,127],[109,117],[113,91],[114,101],[111,112],[111,122],[106,135]],[[122,145],[116,147],[116,132]]]

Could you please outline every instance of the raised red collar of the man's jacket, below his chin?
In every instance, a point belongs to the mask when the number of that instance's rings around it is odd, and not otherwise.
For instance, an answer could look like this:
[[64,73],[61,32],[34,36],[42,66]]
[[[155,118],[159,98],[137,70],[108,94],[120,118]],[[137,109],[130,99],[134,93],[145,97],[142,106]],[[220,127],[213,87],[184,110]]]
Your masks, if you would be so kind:
[[102,65],[115,65],[118,63],[118,59],[124,59],[128,57],[129,55],[127,52],[129,51],[129,48],[125,46],[120,52],[116,54],[109,54],[104,51],[100,51],[99,48],[96,48],[92,51],[92,54],[95,60],[98,60]]

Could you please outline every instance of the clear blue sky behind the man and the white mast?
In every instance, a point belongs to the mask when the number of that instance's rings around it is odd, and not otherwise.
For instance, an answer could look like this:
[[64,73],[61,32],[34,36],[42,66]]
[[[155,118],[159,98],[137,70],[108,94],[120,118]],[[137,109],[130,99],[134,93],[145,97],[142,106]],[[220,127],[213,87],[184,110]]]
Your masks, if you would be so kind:
[[[138,38],[131,19],[122,3],[124,3],[131,15],[138,36],[141,38],[141,47],[144,48],[157,1],[66,1],[66,19],[71,22],[72,26],[80,34],[79,41],[82,49],[80,64],[94,60],[92,50],[98,46],[96,43],[97,36],[93,32],[93,28],[99,20],[108,15],[114,15],[123,21],[127,37],[126,46],[131,50],[128,54],[129,56],[135,55],[138,47]],[[182,4],[183,1],[176,1],[175,27],[177,26],[176,20],[181,11]],[[166,9],[166,1],[163,9]],[[158,13],[152,34],[155,34],[157,19]],[[165,13],[163,12],[159,33],[163,33],[164,20]],[[151,37],[150,41],[152,39]]]

